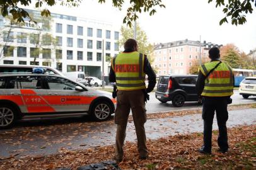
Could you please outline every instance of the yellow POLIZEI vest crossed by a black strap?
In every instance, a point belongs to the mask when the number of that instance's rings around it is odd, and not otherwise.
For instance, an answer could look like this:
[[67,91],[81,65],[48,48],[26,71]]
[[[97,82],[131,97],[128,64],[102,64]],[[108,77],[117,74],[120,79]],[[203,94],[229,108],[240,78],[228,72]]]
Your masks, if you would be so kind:
[[[208,62],[199,66],[199,70],[207,75],[219,61]],[[233,94],[233,71],[230,65],[221,63],[214,71],[206,77],[202,96],[231,96]]]

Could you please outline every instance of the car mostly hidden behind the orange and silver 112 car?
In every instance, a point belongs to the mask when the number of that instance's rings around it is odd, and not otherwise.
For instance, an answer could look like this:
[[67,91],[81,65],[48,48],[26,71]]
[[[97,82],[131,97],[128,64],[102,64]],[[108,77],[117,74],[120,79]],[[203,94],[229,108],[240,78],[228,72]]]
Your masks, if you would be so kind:
[[57,74],[60,76],[64,76],[62,72],[58,71],[49,66],[42,66],[42,65],[0,65],[0,73],[14,73],[14,72],[32,72],[35,68],[42,68],[46,74]]

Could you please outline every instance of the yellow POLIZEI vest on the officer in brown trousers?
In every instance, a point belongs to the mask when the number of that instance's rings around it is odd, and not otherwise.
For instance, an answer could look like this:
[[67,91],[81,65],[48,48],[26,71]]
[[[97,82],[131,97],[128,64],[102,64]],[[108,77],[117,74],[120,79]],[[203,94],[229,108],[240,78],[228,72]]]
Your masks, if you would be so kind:
[[118,90],[146,89],[144,55],[139,52],[122,52],[111,60]]

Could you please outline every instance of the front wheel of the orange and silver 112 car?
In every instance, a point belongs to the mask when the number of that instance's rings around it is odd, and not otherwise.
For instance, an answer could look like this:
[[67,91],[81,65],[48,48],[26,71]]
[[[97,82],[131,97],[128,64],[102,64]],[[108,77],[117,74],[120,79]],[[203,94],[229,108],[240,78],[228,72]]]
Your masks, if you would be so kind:
[[96,102],[91,111],[91,115],[96,121],[107,120],[111,115],[111,107],[107,101]]

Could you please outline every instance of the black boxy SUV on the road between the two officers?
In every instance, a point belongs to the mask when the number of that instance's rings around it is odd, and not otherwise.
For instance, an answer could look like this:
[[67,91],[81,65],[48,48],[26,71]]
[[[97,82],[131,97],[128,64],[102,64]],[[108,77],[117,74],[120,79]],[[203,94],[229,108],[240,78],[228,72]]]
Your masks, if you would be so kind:
[[172,105],[176,107],[183,106],[185,101],[197,101],[196,81],[196,75],[160,76],[156,98],[161,103],[172,101]]

